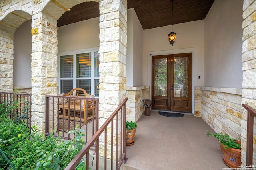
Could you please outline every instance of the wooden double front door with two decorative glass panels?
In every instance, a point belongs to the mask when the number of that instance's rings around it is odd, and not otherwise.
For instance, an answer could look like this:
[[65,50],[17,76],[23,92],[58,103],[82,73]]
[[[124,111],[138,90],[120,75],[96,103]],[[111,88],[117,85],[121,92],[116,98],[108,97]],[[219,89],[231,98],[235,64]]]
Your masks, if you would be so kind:
[[192,53],[152,56],[152,109],[192,112]]

